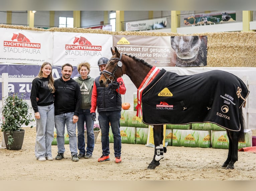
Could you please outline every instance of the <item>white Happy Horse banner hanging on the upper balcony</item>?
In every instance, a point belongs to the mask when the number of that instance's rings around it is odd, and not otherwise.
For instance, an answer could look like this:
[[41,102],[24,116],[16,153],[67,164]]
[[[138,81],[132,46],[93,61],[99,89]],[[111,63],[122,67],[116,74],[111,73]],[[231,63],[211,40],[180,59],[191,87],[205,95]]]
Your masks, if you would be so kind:
[[166,18],[127,22],[126,31],[145,31],[166,27]]

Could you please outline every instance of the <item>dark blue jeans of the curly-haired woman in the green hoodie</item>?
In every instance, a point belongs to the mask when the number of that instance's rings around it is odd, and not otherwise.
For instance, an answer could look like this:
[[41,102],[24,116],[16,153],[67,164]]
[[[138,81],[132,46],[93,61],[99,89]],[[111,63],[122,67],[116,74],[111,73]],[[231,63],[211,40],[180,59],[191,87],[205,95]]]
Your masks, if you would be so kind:
[[[87,147],[85,151],[85,124],[87,131]],[[94,133],[93,133],[94,120],[92,120],[90,109],[80,109],[78,122],[77,122],[77,147],[79,153],[93,155],[94,149]]]

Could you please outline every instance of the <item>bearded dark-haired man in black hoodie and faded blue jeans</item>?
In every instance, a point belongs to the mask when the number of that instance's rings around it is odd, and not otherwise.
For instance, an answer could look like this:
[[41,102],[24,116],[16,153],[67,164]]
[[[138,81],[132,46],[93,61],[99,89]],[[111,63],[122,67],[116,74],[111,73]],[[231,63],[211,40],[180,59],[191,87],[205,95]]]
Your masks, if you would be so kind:
[[71,78],[73,66],[64,64],[61,67],[62,77],[54,81],[54,115],[57,133],[58,155],[56,160],[64,158],[65,152],[65,124],[69,134],[69,146],[72,161],[78,161],[76,122],[81,107],[81,91],[78,83]]

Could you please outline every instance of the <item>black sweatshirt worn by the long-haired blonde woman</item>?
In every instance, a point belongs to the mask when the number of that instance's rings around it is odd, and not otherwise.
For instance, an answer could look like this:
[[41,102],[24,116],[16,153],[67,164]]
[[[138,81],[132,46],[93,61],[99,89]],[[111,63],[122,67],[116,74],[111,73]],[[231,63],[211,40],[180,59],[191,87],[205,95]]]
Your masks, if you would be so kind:
[[[32,87],[30,92],[31,105],[36,112],[38,112],[38,106],[47,106],[53,103],[53,94],[48,88],[48,78],[35,78],[32,81]],[[39,98],[36,101],[36,97]]]

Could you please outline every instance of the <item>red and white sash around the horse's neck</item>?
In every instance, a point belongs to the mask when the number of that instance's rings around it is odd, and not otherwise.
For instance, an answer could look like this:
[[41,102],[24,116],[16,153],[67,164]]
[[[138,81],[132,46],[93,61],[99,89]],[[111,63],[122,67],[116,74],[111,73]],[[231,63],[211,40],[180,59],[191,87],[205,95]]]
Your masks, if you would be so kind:
[[142,91],[147,87],[147,85],[150,84],[150,82],[152,82],[152,80],[156,77],[156,75],[160,72],[160,70],[158,68],[156,68],[155,66],[153,66],[153,68],[151,68],[151,70],[149,71],[149,73],[147,74],[147,76],[144,78],[144,80],[142,81],[140,87],[137,90],[137,99],[138,99],[138,104],[136,106],[137,109],[137,114],[136,116],[141,118],[142,116],[142,109],[141,109],[141,97],[142,97]]

